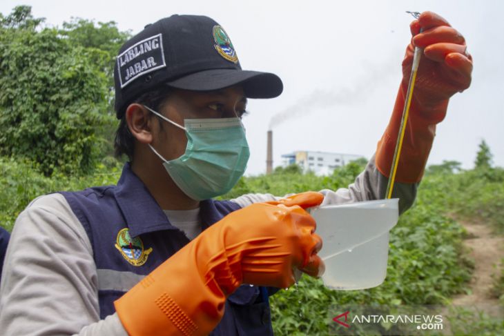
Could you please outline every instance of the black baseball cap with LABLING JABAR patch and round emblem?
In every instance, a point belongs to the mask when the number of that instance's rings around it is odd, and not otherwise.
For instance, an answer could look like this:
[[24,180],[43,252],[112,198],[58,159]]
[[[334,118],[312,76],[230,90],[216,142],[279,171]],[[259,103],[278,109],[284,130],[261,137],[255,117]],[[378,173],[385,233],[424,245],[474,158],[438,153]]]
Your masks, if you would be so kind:
[[114,79],[117,118],[137,97],[162,85],[209,91],[241,83],[249,98],[273,98],[283,90],[277,75],[242,70],[224,29],[195,15],[161,19],[126,41]]

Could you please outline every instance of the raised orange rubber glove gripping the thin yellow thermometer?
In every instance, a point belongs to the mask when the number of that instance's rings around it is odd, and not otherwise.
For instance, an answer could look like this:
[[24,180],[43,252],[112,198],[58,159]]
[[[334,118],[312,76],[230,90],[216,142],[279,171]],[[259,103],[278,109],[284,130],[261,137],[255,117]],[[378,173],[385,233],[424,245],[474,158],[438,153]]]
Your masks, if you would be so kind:
[[472,72],[472,57],[467,54],[464,37],[445,19],[433,12],[423,12],[410,28],[413,38],[403,60],[403,81],[389,125],[376,150],[376,167],[382,175],[389,177],[414,46],[423,48],[396,172],[396,181],[403,183],[416,183],[422,179],[436,134],[436,123],[445,118],[449,97],[469,88]]

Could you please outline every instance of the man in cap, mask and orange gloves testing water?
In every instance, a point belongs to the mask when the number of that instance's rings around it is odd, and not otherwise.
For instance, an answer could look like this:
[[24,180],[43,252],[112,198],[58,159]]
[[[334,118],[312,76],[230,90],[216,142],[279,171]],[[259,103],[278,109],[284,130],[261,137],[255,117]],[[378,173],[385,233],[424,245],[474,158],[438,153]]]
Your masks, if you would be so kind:
[[[411,32],[424,53],[396,177],[401,211],[449,97],[472,71],[463,37],[443,18],[425,12]],[[214,201],[249,157],[246,99],[276,97],[282,81],[241,70],[212,19],[147,26],[115,68],[116,149],[130,163],[117,186],[39,197],[19,215],[1,284],[2,334],[271,335],[274,288],[293,284],[293,268],[312,276],[324,268],[303,209],[384,197],[413,48],[376,156],[348,189]]]

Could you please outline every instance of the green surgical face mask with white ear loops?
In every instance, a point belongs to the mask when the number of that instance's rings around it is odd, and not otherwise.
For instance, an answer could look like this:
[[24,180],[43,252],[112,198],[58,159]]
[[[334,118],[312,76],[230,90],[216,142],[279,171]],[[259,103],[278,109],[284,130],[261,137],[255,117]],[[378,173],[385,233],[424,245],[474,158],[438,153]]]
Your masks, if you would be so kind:
[[235,186],[245,172],[250,150],[240,118],[184,119],[184,126],[171,121],[155,110],[155,115],[186,131],[186,152],[163,166],[175,184],[188,197],[197,201],[224,195]]

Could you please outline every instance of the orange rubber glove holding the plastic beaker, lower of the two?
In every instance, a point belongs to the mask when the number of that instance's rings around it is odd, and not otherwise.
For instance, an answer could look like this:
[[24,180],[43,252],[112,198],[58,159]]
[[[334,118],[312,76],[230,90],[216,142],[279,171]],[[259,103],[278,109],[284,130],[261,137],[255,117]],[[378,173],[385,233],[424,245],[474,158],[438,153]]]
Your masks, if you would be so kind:
[[303,210],[324,197],[307,192],[253,204],[213,224],[115,302],[129,335],[208,335],[240,284],[287,287],[293,267],[318,275],[322,239]]

